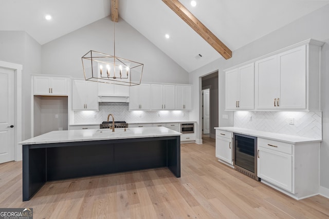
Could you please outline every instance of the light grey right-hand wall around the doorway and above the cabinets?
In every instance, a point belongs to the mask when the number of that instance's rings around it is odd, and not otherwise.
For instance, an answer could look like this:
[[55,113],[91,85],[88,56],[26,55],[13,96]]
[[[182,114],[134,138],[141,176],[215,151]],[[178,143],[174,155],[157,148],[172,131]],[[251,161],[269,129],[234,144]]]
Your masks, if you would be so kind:
[[[190,82],[194,85],[193,112],[190,113],[191,120],[200,120],[199,101],[200,84],[199,77],[209,72],[219,70],[220,77],[220,102],[219,102],[219,126],[233,125],[231,112],[225,111],[225,74],[223,69],[232,67],[250,59],[260,57],[267,53],[299,43],[308,38],[318,39],[326,42],[321,50],[321,109],[323,110],[323,142],[321,143],[320,157],[320,185],[329,191],[329,5],[314,11],[295,22],[292,22],[268,35],[263,36],[242,48],[233,51],[232,58],[225,60],[218,58],[216,61],[190,73]],[[223,120],[222,115],[229,114],[229,120]],[[198,127],[197,138],[200,137]]]

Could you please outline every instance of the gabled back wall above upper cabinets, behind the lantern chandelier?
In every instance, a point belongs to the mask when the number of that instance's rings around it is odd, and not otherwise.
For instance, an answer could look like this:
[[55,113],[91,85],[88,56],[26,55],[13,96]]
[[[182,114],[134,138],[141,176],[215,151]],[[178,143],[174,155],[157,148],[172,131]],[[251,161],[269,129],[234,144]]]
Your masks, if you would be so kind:
[[[110,17],[89,24],[42,46],[42,73],[83,77],[81,57],[89,50],[114,54]],[[115,23],[116,56],[144,64],[142,82],[181,83],[188,72],[123,19]]]

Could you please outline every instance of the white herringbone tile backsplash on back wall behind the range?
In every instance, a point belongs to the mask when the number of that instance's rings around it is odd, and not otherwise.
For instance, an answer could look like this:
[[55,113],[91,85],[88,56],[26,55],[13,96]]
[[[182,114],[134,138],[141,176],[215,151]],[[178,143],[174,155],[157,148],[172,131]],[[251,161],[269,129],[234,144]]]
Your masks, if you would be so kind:
[[128,103],[99,103],[99,111],[75,111],[75,124],[100,124],[112,113],[115,121],[138,122],[175,122],[188,121],[188,111],[129,111]]

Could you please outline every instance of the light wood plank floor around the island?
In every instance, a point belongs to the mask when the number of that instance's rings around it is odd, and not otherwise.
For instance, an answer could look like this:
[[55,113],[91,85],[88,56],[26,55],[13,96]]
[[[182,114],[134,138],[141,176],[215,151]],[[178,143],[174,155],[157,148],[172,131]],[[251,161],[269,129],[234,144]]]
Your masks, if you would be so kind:
[[167,168],[46,183],[22,202],[22,162],[0,164],[0,207],[34,218],[329,218],[320,195],[296,201],[217,161],[214,140],[181,145],[181,177]]

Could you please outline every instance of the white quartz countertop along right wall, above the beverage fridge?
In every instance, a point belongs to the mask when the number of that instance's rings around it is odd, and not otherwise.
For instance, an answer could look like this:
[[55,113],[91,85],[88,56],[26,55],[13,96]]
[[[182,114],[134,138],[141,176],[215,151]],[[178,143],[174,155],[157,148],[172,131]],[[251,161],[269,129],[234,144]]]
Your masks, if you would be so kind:
[[288,134],[280,134],[266,131],[258,131],[252,129],[238,128],[238,127],[215,127],[214,129],[229,131],[239,134],[246,134],[255,137],[267,138],[274,141],[286,142],[289,144],[298,144],[298,143],[312,143],[312,142],[322,142],[322,139],[319,138],[309,138]]

